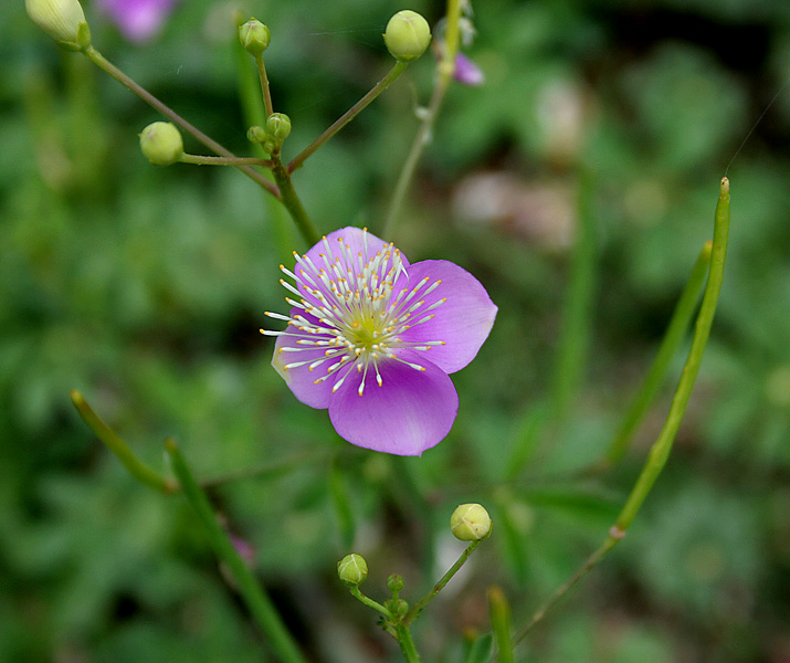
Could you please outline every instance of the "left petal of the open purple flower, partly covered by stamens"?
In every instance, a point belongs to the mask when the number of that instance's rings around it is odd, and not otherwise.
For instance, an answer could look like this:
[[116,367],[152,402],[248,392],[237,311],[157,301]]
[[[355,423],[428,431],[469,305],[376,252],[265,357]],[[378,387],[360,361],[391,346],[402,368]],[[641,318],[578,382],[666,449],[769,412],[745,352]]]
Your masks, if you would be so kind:
[[[301,315],[310,323],[318,324],[318,320],[301,308],[292,308],[291,317]],[[329,407],[329,396],[331,387],[337,380],[337,376],[329,377],[316,383],[316,380],[327,375],[327,369],[339,361],[339,359],[327,359],[326,351],[330,346],[313,347],[299,344],[298,340],[329,341],[333,336],[324,334],[299,334],[293,325],[285,328],[286,334],[277,336],[274,344],[274,356],[272,366],[285,380],[288,389],[294,396],[310,408],[324,409]],[[292,335],[293,334],[293,335]],[[293,366],[293,364],[302,364]],[[315,366],[315,362],[319,364]],[[291,366],[288,366],[291,365]],[[313,365],[313,370],[310,370]],[[288,366],[288,368],[286,368]]]

